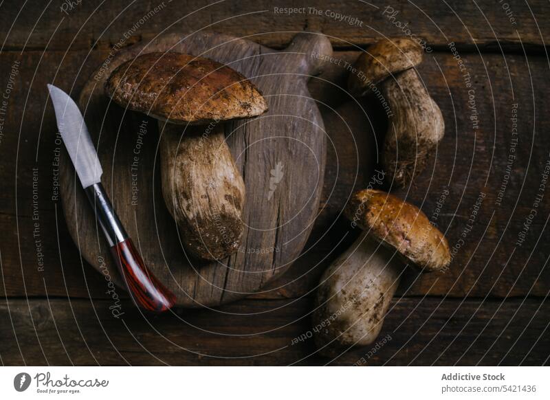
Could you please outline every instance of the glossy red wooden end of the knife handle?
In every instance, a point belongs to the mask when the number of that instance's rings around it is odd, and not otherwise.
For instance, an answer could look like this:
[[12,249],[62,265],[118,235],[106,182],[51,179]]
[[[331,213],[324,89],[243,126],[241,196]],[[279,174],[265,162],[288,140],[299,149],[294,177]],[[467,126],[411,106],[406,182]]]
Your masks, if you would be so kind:
[[113,245],[111,252],[124,276],[128,291],[138,306],[148,311],[162,312],[175,304],[174,293],[148,271],[130,238]]

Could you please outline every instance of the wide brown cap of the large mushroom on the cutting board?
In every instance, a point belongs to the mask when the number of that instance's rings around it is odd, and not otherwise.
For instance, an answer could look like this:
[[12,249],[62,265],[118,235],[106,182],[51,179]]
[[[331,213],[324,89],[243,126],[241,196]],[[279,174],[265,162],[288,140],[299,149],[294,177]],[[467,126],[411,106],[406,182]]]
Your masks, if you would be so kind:
[[175,52],[119,65],[105,90],[115,102],[175,124],[250,118],[267,110],[260,91],[230,67]]

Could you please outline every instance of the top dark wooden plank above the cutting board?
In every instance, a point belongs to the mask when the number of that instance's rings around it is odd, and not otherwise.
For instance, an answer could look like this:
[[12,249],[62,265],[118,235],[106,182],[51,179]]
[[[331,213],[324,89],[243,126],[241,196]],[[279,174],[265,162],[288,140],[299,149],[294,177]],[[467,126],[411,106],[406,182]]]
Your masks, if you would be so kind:
[[[294,12],[285,11],[288,8]],[[89,49],[148,40],[164,30],[209,29],[282,47],[296,32],[308,29],[331,36],[341,47],[414,34],[431,47],[454,41],[476,52],[477,47],[500,52],[500,47],[521,50],[524,45],[543,49],[544,37],[550,34],[546,8],[544,0],[531,0],[528,6],[520,0],[41,0],[24,6],[12,1],[1,6],[0,25],[5,29],[0,40],[8,49]]]

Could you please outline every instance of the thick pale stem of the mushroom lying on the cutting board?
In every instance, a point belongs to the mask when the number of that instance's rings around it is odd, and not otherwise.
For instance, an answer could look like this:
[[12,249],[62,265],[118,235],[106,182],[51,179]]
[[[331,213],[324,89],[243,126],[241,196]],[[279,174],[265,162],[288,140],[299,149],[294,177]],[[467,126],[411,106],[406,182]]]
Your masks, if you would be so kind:
[[220,260],[241,243],[245,185],[223,124],[159,124],[162,194],[188,251]]

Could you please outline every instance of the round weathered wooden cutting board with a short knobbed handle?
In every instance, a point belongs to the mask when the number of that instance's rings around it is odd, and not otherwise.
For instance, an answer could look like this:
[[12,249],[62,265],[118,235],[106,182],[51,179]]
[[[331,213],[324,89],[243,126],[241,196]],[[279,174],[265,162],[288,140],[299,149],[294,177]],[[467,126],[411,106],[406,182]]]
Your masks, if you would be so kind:
[[[246,186],[239,252],[220,263],[184,251],[162,199],[157,121],[125,111],[104,95],[111,71],[148,52],[183,52],[229,65],[263,92],[269,111],[228,122],[225,134]],[[199,32],[138,43],[101,65],[80,95],[80,109],[100,157],[114,208],[146,265],[184,307],[215,306],[260,291],[300,255],[318,212],[326,135],[307,81],[331,56],[322,34],[303,32],[276,51],[252,41]],[[69,232],[83,257],[122,287],[74,168],[61,160],[61,195]],[[105,269],[107,268],[107,269]]]

